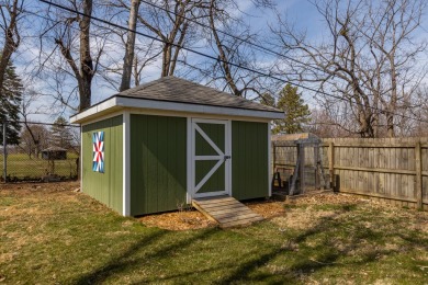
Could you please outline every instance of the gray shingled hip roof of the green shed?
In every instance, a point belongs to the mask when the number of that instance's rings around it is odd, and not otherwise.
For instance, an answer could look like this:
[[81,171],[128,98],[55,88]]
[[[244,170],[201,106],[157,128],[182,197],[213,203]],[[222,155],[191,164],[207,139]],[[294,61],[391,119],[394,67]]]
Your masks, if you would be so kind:
[[278,109],[266,106],[177,77],[164,77],[117,93],[115,96],[282,113]]

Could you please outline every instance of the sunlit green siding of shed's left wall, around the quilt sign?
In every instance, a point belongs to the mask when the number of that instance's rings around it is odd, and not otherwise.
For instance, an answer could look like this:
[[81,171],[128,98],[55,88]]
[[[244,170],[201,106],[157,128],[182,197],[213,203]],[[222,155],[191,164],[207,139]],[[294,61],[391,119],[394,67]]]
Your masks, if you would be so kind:
[[[123,118],[106,118],[82,127],[82,191],[122,214]],[[92,134],[104,132],[104,173],[92,171]]]

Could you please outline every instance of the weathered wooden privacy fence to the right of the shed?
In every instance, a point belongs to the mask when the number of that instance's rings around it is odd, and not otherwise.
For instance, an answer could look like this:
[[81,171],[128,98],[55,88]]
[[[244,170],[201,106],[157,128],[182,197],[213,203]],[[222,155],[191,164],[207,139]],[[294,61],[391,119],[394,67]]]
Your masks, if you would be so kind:
[[[295,146],[272,140],[272,151],[273,168],[295,164]],[[320,155],[335,191],[428,209],[428,138],[326,138]]]

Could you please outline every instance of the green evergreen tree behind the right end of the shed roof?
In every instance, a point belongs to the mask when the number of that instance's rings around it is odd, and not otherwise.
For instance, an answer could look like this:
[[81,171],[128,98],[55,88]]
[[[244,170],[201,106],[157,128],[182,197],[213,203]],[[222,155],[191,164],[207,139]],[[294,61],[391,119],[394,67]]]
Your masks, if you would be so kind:
[[303,125],[311,119],[311,111],[307,104],[302,99],[302,94],[297,93],[297,88],[286,84],[279,93],[275,102],[270,94],[263,95],[266,105],[274,106],[284,111],[285,118],[273,121],[273,134],[285,133],[295,134],[303,132]]

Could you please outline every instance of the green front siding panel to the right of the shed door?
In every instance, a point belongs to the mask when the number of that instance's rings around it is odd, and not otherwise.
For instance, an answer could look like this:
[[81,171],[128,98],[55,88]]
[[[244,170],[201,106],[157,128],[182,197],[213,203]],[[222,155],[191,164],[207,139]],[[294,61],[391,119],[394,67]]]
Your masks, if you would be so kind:
[[232,122],[232,195],[269,196],[268,124]]

